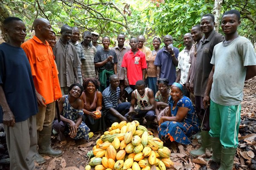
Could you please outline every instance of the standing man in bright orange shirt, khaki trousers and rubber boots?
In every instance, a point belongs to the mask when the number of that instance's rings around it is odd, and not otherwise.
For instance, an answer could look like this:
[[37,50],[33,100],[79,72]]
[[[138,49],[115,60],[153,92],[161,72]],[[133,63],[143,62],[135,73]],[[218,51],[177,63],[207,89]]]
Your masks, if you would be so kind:
[[[61,156],[61,150],[53,150],[50,147],[55,100],[62,96],[52,48],[46,41],[52,35],[52,26],[48,20],[37,18],[33,27],[35,36],[24,42],[21,47],[29,59],[38,101],[39,112],[36,115],[38,153]],[[42,164],[45,159],[38,153],[35,153],[35,160],[38,164]]]

